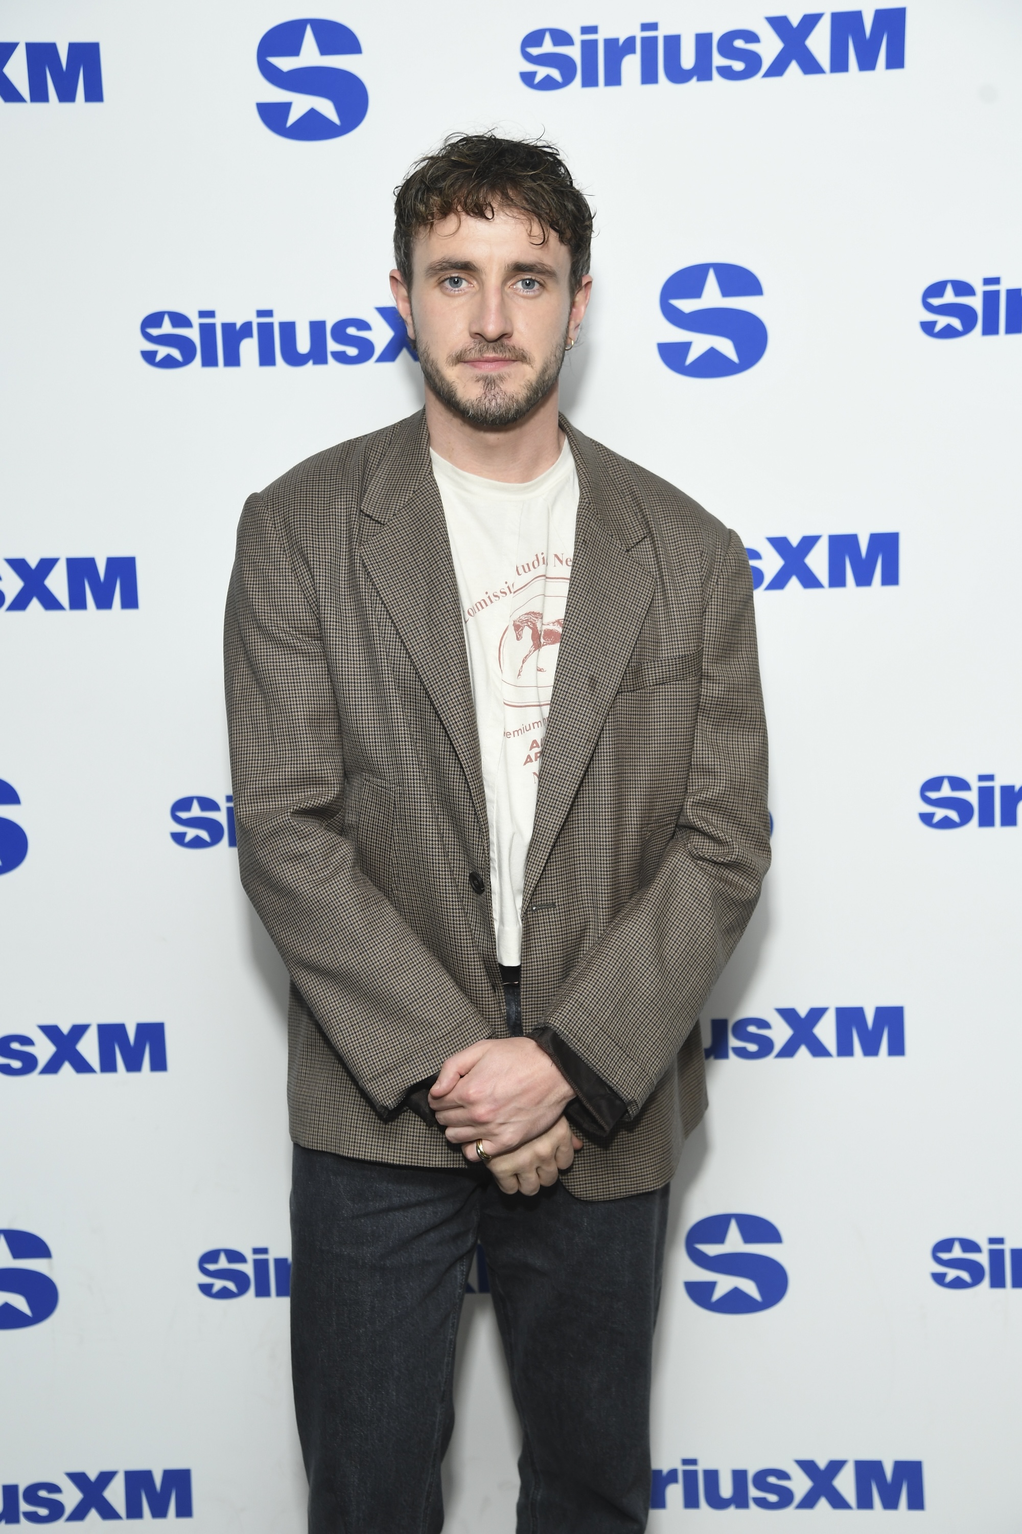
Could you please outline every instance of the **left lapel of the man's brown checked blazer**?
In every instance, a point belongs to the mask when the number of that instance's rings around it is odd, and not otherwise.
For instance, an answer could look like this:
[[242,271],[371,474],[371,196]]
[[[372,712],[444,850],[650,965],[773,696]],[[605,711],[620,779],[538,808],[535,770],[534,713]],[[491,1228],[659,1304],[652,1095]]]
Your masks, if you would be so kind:
[[363,542],[362,561],[450,736],[486,833],[486,792],[464,623],[447,523],[429,463],[424,413],[395,428],[388,457],[363,495],[362,511],[383,523]]

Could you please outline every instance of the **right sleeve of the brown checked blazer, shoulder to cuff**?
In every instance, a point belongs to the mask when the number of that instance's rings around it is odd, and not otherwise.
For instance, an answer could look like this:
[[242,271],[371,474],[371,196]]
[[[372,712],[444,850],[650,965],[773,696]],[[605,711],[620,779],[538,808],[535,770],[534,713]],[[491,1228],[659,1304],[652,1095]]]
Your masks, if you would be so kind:
[[576,965],[545,1025],[634,1118],[668,1069],[755,908],[769,867],[766,721],[749,563],[723,543],[703,614],[685,799],[653,881]]

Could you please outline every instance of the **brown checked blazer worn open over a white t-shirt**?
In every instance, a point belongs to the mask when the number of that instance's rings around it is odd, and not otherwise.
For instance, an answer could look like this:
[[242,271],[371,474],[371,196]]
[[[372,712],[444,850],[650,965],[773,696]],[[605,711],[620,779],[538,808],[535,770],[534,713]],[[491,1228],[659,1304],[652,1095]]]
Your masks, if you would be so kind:
[[[699,1011],[769,864],[766,729],[737,534],[562,426],[581,494],[521,1005],[627,1104],[564,1174],[621,1198],[671,1177],[705,1108]],[[461,1166],[408,1095],[507,1025],[423,413],[248,499],[225,652],[241,876],[291,974],[291,1134]]]

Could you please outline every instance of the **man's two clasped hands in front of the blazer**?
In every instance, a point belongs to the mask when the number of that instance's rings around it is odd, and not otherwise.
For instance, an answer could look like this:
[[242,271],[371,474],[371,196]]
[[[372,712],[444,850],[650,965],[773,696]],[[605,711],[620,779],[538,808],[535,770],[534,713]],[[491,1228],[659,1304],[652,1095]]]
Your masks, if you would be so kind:
[[575,1089],[533,1039],[484,1039],[444,1060],[429,1106],[450,1144],[504,1193],[538,1193],[567,1172],[582,1141],[564,1117]]

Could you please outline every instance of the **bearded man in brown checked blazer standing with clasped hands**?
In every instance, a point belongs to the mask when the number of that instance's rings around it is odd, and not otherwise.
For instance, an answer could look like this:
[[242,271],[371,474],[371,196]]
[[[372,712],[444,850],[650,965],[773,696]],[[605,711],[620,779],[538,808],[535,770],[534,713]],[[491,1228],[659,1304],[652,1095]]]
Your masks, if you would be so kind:
[[668,1183],[769,861],[766,739],[740,538],[558,416],[590,236],[547,144],[420,161],[391,284],[424,411],[241,522],[234,815],[293,982],[313,1534],[441,1528],[477,1241],[519,1534],[647,1522]]

